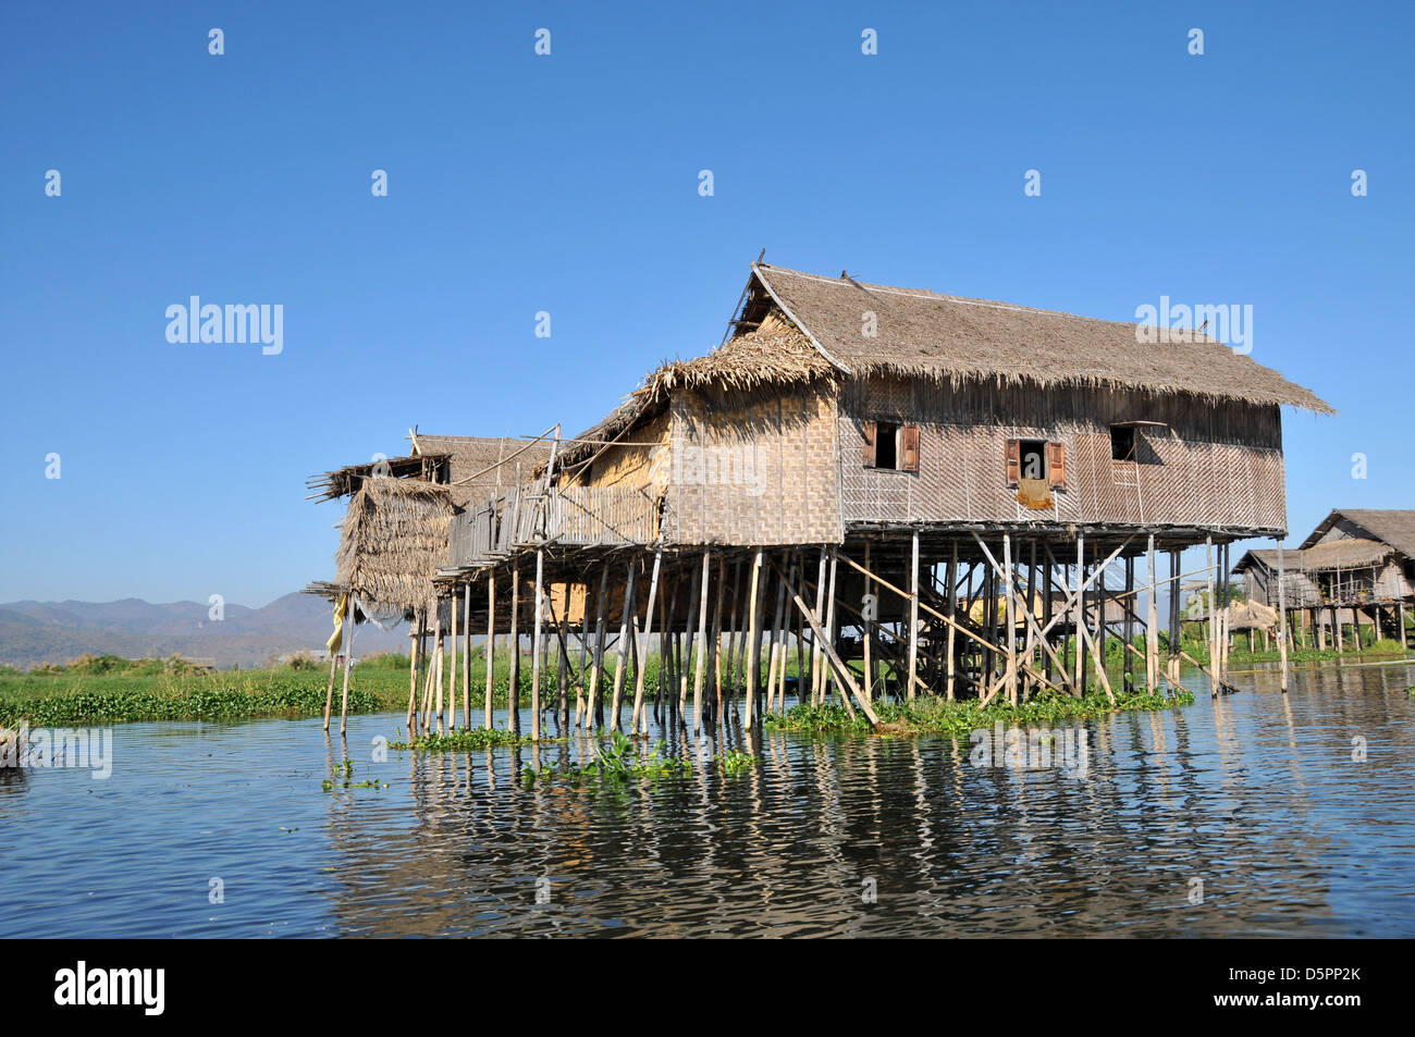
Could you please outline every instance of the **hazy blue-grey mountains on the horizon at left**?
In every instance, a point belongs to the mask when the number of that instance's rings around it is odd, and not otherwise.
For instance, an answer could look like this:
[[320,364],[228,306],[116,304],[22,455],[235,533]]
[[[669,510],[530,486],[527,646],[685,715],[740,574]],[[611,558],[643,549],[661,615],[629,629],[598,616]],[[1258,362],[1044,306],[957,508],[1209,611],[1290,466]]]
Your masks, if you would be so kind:
[[[259,666],[273,655],[318,649],[334,630],[330,604],[310,594],[286,594],[263,608],[226,604],[214,622],[200,601],[8,601],[0,604],[0,664],[30,668],[95,655],[215,658],[222,669]],[[408,628],[392,632],[364,624],[357,655],[406,652]]]

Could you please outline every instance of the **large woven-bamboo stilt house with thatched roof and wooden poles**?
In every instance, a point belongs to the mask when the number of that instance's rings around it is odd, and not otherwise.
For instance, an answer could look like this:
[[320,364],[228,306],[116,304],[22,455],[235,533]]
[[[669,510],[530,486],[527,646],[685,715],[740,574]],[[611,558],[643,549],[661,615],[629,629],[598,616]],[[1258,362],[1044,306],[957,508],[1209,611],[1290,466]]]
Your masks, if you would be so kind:
[[634,731],[689,693],[719,720],[741,695],[749,727],[788,689],[870,720],[882,692],[1114,695],[1108,638],[1126,683],[1138,661],[1177,686],[1179,552],[1206,548],[1224,600],[1228,545],[1286,533],[1281,407],[1330,407],[1203,335],[1145,340],[754,263],[717,349],[454,512],[439,583],[491,635],[533,614],[533,736],[546,709],[570,726],[550,668],[579,673],[576,723],[608,696]]

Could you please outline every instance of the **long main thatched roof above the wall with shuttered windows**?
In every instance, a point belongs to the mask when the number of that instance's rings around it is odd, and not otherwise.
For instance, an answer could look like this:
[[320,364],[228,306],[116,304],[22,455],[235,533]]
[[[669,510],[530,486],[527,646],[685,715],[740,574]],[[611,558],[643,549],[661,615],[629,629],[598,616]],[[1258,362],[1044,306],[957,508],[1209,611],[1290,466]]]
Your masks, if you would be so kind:
[[[768,263],[751,270],[754,284],[842,373],[1129,388],[1332,412],[1310,390],[1197,332],[1189,334],[1191,341],[1142,344],[1135,324],[819,277]],[[758,291],[743,315],[764,301]],[[873,338],[862,334],[866,311],[876,315]],[[753,321],[739,327],[744,324]]]

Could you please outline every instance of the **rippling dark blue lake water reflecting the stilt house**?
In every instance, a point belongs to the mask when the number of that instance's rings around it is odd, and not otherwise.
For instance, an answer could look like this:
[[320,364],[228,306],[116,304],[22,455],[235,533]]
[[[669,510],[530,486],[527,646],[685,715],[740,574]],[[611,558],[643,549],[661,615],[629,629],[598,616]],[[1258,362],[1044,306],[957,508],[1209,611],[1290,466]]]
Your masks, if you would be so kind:
[[1415,668],[1186,680],[1077,726],[1084,775],[767,733],[737,775],[708,746],[688,778],[525,788],[584,748],[372,763],[402,719],[364,716],[355,781],[389,788],[328,794],[317,719],[119,726],[108,780],[0,780],[0,932],[1415,935]]

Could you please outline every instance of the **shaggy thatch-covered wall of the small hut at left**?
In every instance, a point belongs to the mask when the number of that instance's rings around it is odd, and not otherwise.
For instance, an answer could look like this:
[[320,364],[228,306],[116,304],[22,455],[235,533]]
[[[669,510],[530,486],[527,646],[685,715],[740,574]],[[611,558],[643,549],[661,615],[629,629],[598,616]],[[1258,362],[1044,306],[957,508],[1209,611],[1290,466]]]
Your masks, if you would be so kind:
[[374,615],[409,615],[436,600],[433,576],[447,563],[453,505],[447,487],[371,477],[350,499],[334,559],[335,583]]

